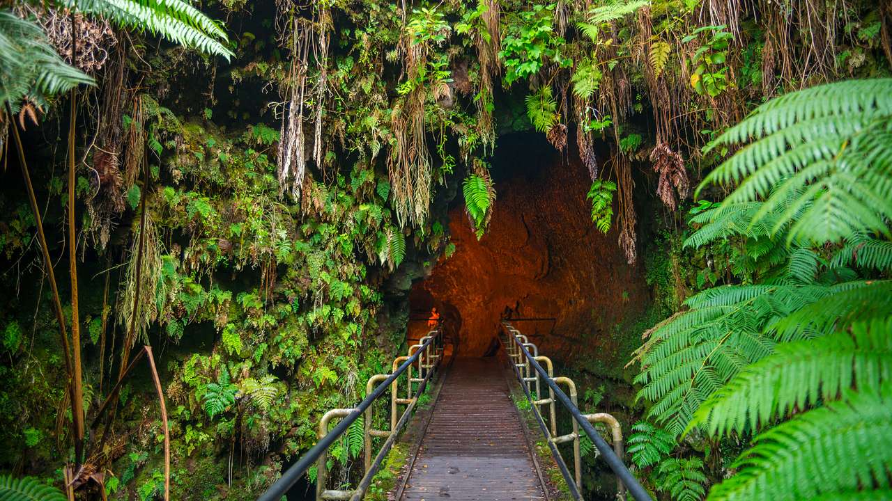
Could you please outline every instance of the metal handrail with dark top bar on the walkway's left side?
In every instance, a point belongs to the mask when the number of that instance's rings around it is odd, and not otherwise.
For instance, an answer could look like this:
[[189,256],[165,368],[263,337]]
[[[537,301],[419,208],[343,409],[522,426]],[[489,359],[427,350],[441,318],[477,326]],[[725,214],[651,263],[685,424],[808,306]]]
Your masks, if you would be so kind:
[[[396,439],[397,434],[401,431],[401,428],[405,425],[405,423],[409,422],[409,415],[412,409],[415,407],[417,403],[417,398],[420,394],[425,390],[425,386],[430,379],[431,375],[434,374],[434,369],[438,365],[440,361],[440,355],[437,352],[437,342],[441,340],[439,325],[428,335],[422,338],[422,341],[419,341],[419,344],[413,345],[409,348],[409,354],[406,357],[397,357],[393,361],[393,372],[392,374],[375,374],[368,380],[367,384],[367,395],[366,398],[363,398],[359,405],[351,408],[343,408],[343,409],[332,409],[326,412],[323,415],[322,419],[319,421],[319,440],[306,454],[301,456],[300,459],[297,460],[297,463],[293,464],[290,468],[288,468],[282,476],[276,480],[273,485],[269,486],[266,492],[260,495],[257,498],[257,501],[278,501],[288,489],[291,489],[292,486],[297,483],[298,480],[301,479],[301,476],[310,469],[313,463],[317,464],[317,490],[316,490],[316,498],[320,499],[353,499],[358,500],[364,494],[368,486],[371,484],[371,479],[375,475],[375,472],[380,467],[381,463],[384,460],[384,456],[390,451],[390,448],[393,445],[393,442]],[[431,347],[434,347],[434,355],[432,356],[430,353]],[[416,349],[413,353],[413,349]],[[425,363],[426,358],[426,363]],[[432,361],[433,360],[433,361]],[[402,362],[401,365],[397,366],[398,362]],[[423,376],[420,378],[412,378],[410,367],[414,364],[418,364],[419,375]],[[408,397],[409,398],[397,398],[397,380],[398,378],[409,370],[409,381],[407,382],[407,387],[409,389]],[[374,390],[368,392],[368,389],[375,382],[379,382]],[[417,392],[412,394],[412,383],[418,382]],[[375,400],[381,397],[388,388],[392,388],[391,391],[391,429],[390,430],[372,430],[371,429],[371,421],[372,421],[372,404]],[[397,413],[397,404],[407,404],[406,409],[403,411],[399,420],[396,419]],[[338,439],[341,435],[343,435],[344,431],[347,431],[350,428],[350,425],[355,422],[360,415],[366,415],[366,420],[364,423],[364,448],[365,448],[365,461],[363,462],[365,468],[365,474],[362,480],[359,481],[359,487],[353,490],[329,490],[326,489],[326,456],[328,452],[328,448],[331,447],[335,440]],[[334,418],[342,418],[340,423],[337,423],[335,428],[331,431],[328,431],[328,423]],[[374,463],[370,462],[371,459],[371,437],[387,437],[382,445],[381,450],[378,452]]]

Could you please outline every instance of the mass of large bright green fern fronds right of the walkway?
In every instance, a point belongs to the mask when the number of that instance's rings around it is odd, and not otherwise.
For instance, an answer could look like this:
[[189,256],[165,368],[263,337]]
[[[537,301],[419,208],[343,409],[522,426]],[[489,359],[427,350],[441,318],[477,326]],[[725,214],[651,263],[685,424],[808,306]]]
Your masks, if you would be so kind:
[[701,185],[733,183],[734,191],[691,218],[699,227],[686,245],[738,241],[748,283],[691,297],[635,357],[639,398],[653,403],[648,418],[673,436],[751,438],[731,464],[739,472],[709,499],[882,497],[888,489],[892,456],[871,442],[888,437],[892,417],[892,282],[883,279],[892,265],[889,90],[879,79],[788,94],[712,146],[750,142]]

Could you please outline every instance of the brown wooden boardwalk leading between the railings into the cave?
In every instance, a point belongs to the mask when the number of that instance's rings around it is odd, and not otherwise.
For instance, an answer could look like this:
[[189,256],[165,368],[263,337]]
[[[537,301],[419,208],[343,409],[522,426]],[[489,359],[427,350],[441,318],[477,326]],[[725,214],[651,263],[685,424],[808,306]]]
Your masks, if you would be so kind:
[[498,358],[458,358],[401,499],[545,499]]

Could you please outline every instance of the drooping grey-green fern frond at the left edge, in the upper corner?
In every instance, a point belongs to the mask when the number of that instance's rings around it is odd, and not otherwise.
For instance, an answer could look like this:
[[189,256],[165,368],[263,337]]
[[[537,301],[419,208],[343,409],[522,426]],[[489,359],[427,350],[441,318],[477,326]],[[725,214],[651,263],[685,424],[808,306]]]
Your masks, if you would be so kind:
[[59,57],[44,32],[32,21],[10,11],[0,11],[0,106],[12,112],[24,101],[46,108],[46,99],[78,86],[93,86],[93,78],[72,68]]

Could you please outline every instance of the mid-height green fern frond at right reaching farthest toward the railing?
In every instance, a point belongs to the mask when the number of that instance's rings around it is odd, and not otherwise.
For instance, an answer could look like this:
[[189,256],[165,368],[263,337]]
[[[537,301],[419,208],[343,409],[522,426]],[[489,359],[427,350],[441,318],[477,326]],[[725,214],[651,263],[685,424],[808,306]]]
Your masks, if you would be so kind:
[[777,341],[807,337],[801,331],[770,331],[776,318],[828,297],[839,287],[822,285],[729,285],[685,301],[690,311],[657,324],[634,354],[643,384],[638,398],[654,402],[648,417],[678,435],[706,398],[741,369],[772,353]]

